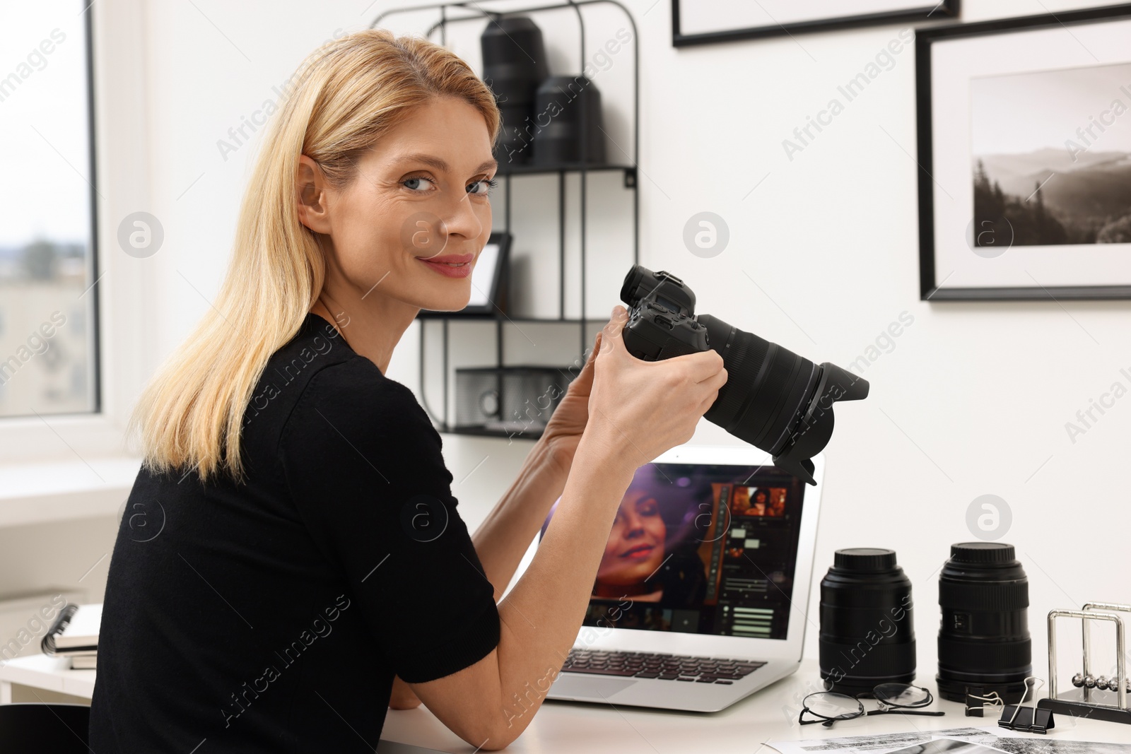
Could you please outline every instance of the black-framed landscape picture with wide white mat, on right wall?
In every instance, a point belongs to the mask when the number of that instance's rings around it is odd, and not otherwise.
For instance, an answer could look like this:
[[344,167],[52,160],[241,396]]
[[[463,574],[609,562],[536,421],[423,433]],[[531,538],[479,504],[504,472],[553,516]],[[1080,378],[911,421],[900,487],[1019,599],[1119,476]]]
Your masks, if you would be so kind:
[[1131,5],[916,34],[920,297],[1131,298]]

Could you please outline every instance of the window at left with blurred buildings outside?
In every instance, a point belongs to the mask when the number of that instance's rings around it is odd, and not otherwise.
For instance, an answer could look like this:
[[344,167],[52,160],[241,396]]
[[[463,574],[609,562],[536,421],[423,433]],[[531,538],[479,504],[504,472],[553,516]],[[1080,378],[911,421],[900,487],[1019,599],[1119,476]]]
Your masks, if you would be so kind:
[[0,6],[0,417],[98,409],[88,7]]

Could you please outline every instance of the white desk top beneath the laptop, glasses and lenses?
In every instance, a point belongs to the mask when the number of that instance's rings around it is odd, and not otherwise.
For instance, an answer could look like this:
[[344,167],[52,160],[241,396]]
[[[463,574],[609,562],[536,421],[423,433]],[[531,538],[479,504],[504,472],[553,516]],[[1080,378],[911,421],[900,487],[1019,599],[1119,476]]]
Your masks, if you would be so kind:
[[[46,688],[89,699],[94,693],[94,670],[71,670],[67,660],[32,655],[11,660],[0,668],[0,703],[11,701],[11,684]],[[934,690],[931,666],[921,668],[918,683]],[[761,747],[767,740],[800,740],[906,730],[981,728],[996,725],[996,719],[968,718],[962,705],[936,702],[947,714],[941,718],[887,714],[838,722],[832,729],[819,725],[798,726],[797,703],[817,690],[817,660],[806,659],[801,669],[753,696],[714,714],[665,712],[631,707],[546,702],[526,731],[508,752],[550,754],[586,752],[602,754],[769,754]],[[1056,728],[1047,736],[1010,736],[1035,739],[1094,740],[1131,744],[1131,726],[1056,716]],[[467,744],[443,727],[424,707],[415,710],[389,710],[382,740],[400,742],[441,752],[468,754]]]

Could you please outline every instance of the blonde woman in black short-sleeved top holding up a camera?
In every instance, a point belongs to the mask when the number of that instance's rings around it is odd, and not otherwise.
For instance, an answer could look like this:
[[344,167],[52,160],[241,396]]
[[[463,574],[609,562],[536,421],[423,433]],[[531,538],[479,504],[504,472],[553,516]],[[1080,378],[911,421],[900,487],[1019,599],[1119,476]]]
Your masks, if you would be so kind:
[[385,372],[418,310],[469,300],[494,98],[450,52],[375,31],[328,43],[295,80],[221,293],[138,405],[100,754],[372,752],[387,705],[420,701],[468,744],[506,746],[532,717],[508,700],[577,635],[633,470],[687,441],[726,380],[714,352],[633,358],[618,306],[472,537],[439,434]]

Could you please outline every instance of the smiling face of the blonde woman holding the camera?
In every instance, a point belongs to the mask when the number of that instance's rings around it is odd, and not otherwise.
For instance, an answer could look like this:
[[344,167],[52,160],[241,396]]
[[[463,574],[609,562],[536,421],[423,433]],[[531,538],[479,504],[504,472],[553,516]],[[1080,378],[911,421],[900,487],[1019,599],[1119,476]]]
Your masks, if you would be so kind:
[[374,294],[366,302],[374,305],[463,309],[491,235],[487,189],[497,167],[475,107],[455,97],[416,107],[364,153],[352,183],[327,191],[325,216],[303,216],[333,244],[328,279],[363,300]]

